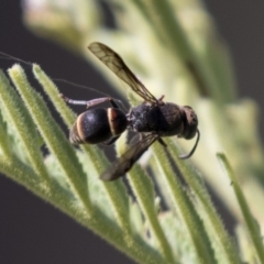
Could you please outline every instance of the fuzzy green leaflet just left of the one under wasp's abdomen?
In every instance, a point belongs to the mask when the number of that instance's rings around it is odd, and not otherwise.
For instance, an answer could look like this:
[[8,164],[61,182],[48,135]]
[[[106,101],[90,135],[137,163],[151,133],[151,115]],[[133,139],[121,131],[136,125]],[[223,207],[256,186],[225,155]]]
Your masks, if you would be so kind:
[[[87,185],[84,182],[84,179],[86,179],[86,175],[80,166],[73,165],[79,164],[73,147],[65,139],[65,135],[58,125],[54,122],[47,107],[40,98],[40,95],[37,95],[30,86],[21,66],[14,65],[11,69],[9,69],[9,74],[24,100],[33,121],[45,140],[47,147],[59,161],[61,167],[67,176],[68,183],[70,184],[76,197],[82,202],[87,213],[91,215],[92,206],[87,194]],[[64,147],[62,147],[62,145]]]

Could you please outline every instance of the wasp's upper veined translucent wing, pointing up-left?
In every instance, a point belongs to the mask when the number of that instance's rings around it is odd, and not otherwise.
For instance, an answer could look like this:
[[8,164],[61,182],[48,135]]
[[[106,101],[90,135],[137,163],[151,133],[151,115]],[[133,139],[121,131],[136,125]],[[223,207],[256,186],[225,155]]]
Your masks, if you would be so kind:
[[124,64],[123,59],[110,47],[102,43],[94,42],[88,48],[120,79],[125,81],[145,101],[157,103],[157,99],[145,88],[135,75]]

